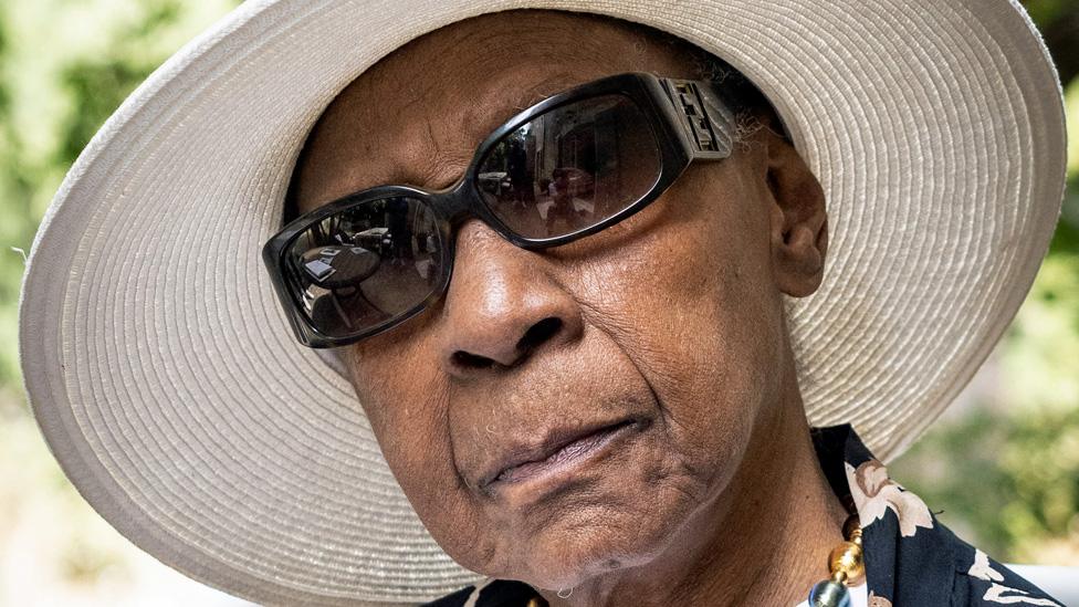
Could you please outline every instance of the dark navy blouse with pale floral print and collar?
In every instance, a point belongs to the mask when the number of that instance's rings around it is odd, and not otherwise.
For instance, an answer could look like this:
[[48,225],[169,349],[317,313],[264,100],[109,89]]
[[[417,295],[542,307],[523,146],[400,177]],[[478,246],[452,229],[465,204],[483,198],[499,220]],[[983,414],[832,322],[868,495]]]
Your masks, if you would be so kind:
[[[940,524],[921,498],[888,477],[850,426],[816,428],[813,439],[832,490],[858,511],[869,607],[1064,607]],[[526,584],[488,579],[428,605],[544,607],[546,601]]]

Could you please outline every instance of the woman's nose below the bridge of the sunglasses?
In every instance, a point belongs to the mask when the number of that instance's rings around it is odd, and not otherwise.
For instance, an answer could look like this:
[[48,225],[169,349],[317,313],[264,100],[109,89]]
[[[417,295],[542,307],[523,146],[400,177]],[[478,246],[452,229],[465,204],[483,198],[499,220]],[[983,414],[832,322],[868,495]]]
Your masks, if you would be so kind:
[[451,376],[514,367],[579,338],[580,308],[543,265],[480,221],[461,227],[443,308],[441,356]]

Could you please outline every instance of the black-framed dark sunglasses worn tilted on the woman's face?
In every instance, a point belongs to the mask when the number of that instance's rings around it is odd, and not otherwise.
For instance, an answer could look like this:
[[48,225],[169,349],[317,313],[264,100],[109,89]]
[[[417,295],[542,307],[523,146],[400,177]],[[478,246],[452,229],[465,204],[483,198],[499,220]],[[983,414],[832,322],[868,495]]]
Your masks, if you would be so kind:
[[454,186],[348,195],[285,226],[263,261],[300,342],[352,344],[442,296],[467,219],[525,249],[596,233],[656,200],[691,161],[730,156],[737,107],[705,81],[584,84],[499,127]]

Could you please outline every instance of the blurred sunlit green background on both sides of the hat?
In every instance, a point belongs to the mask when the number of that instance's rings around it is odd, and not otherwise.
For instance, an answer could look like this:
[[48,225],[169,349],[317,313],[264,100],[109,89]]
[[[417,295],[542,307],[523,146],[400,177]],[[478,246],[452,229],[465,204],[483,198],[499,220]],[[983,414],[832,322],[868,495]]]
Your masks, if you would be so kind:
[[[0,605],[238,605],[77,495],[22,394],[23,257],[64,172],[143,79],[234,0],[0,0]],[[1079,566],[1079,0],[1026,2],[1065,82],[1069,190],[1037,282],[963,397],[891,467],[998,559]]]

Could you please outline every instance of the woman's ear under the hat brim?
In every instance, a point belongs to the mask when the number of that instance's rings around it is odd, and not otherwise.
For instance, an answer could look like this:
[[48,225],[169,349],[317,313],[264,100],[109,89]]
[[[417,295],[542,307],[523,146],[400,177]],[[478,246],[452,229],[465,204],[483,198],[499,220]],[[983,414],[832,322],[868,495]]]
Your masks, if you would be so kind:
[[766,140],[767,184],[772,192],[772,264],[776,285],[805,297],[820,286],[828,251],[825,192],[798,150],[774,130]]

